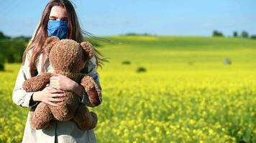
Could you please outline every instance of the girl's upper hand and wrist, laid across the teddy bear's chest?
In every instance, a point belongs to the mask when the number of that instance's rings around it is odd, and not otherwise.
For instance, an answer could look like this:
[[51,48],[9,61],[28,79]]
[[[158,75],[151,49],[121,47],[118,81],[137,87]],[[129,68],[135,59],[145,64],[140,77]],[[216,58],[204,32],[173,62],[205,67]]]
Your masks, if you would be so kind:
[[61,74],[53,74],[50,77],[50,87],[64,91],[73,91],[74,87],[76,87],[76,82]]

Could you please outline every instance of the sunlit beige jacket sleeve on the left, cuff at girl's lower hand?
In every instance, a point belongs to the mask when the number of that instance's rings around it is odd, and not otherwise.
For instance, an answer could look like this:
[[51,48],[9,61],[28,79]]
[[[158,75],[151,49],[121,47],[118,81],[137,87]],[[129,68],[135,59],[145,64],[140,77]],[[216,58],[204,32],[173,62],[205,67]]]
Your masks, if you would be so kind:
[[25,63],[19,69],[17,79],[12,92],[12,100],[15,104],[21,107],[33,107],[38,104],[38,102],[31,102],[31,97],[34,92],[26,92],[22,88],[22,84],[25,80],[30,78],[29,74],[29,52],[26,55]]

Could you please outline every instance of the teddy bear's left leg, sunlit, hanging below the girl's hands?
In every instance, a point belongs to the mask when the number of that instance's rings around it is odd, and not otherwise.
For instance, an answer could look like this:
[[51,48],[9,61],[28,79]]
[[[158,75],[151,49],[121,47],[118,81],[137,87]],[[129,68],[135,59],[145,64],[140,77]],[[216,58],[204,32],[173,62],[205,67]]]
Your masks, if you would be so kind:
[[43,129],[50,124],[53,118],[52,112],[47,104],[40,102],[37,107],[32,107],[29,112],[29,122],[33,129]]

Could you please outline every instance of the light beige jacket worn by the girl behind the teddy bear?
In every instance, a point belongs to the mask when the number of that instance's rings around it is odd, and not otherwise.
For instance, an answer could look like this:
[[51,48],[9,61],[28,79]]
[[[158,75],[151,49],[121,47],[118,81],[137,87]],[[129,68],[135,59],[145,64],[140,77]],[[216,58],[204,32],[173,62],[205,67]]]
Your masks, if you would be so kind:
[[[26,60],[24,65],[21,66],[19,69],[19,74],[17,75],[17,80],[14,86],[14,90],[12,92],[12,99],[13,102],[20,107],[28,108],[35,106],[35,103],[29,103],[30,98],[34,92],[25,92],[24,89],[22,89],[22,84],[26,79],[29,79],[29,55],[31,55],[31,50],[28,52],[26,56]],[[41,61],[42,61],[42,54],[39,56],[39,60],[37,62],[37,71],[38,74],[40,74],[41,71]],[[101,89],[101,85],[99,82],[99,74],[96,71],[96,59],[93,57],[93,59],[86,61],[86,67],[88,68],[86,71],[88,71],[88,75],[93,77],[95,79],[96,83],[99,85]],[[50,66],[49,61],[45,63],[45,71],[50,72],[52,71],[52,68]],[[86,104],[89,107],[93,107],[91,102],[89,102],[88,95],[83,90],[83,99],[81,100],[81,103]],[[55,120],[52,120],[50,127],[47,127],[46,129],[32,129],[29,124],[29,114],[27,115],[27,122],[24,129],[24,135],[22,142],[24,143],[63,143],[63,142],[96,142],[96,137],[94,134],[93,129],[82,131],[79,129],[76,125],[76,122],[73,120],[70,120],[68,122],[58,122]]]

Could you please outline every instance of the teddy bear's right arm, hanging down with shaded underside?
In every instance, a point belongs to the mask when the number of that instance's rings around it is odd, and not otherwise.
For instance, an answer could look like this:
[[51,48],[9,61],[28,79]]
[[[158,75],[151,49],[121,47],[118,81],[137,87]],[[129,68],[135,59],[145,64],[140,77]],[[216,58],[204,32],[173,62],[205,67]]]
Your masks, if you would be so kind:
[[81,79],[81,86],[85,89],[93,106],[101,104],[101,89],[92,77],[84,76],[83,79]]

